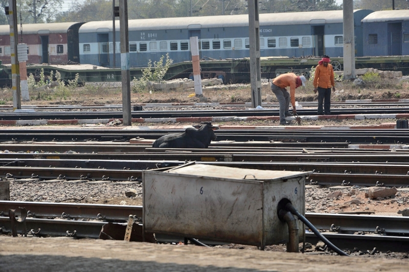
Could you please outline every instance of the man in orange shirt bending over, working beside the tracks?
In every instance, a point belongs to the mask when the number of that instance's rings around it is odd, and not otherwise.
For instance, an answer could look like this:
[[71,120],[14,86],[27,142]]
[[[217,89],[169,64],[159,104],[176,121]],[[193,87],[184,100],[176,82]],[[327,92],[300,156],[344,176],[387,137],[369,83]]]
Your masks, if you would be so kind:
[[[274,93],[280,104],[280,125],[289,125],[290,122],[285,121],[286,116],[290,116],[288,112],[289,98],[291,97],[292,114],[297,113],[296,109],[296,88],[301,85],[305,86],[307,79],[304,76],[297,76],[294,73],[282,74],[271,82],[271,92]],[[288,94],[286,87],[290,87]]]

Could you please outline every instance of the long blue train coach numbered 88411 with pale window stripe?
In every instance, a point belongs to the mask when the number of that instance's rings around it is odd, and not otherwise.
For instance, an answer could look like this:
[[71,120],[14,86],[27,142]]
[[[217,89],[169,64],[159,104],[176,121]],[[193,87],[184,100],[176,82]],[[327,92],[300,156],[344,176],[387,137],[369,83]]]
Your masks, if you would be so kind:
[[[361,20],[371,10],[355,10],[355,49],[362,56]],[[146,67],[169,53],[174,62],[191,60],[189,38],[199,37],[200,57],[249,56],[248,15],[134,19],[128,21],[131,67]],[[92,21],[79,29],[81,63],[112,67],[112,21]],[[261,56],[343,56],[343,11],[260,14]],[[120,66],[119,21],[116,63]]]

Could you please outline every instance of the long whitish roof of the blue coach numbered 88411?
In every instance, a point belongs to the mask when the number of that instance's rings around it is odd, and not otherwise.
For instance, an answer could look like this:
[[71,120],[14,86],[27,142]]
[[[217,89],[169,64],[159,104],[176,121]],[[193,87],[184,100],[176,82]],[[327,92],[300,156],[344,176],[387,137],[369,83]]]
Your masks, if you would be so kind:
[[[354,12],[356,12],[355,10]],[[343,22],[342,10],[262,13],[260,26],[333,24]],[[248,15],[200,16],[155,19],[133,19],[128,21],[128,30],[197,29],[216,27],[248,26]],[[112,31],[112,21],[90,21],[80,27],[79,33]],[[119,31],[119,21],[116,22]]]

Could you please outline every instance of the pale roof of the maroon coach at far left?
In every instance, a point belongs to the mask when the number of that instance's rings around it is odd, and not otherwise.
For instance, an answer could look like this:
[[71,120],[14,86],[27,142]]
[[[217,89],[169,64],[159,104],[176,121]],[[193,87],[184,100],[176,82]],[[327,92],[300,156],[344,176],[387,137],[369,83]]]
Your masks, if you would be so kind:
[[[66,33],[70,27],[82,24],[80,22],[52,22],[49,24],[25,24],[22,25],[22,34],[38,34],[38,33]],[[20,25],[17,27],[17,32],[20,34]],[[1,25],[0,35],[10,35],[10,26]]]

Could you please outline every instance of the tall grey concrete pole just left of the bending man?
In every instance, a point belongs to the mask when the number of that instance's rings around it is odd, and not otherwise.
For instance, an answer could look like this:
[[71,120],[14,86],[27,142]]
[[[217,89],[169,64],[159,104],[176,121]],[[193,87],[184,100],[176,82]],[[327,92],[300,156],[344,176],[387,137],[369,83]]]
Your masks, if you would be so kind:
[[250,41],[252,107],[255,108],[261,106],[260,21],[258,0],[248,0],[248,31]]

